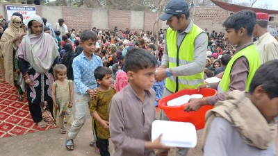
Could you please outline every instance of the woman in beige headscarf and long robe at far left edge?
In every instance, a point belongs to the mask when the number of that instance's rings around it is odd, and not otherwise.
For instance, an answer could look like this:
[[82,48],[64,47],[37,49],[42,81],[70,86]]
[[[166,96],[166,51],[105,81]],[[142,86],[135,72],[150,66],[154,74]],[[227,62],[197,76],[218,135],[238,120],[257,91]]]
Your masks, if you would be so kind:
[[[0,68],[3,73],[3,78],[10,85],[19,89],[17,85],[17,74],[19,71],[15,69],[15,53],[21,41],[21,37],[26,35],[24,30],[20,28],[22,19],[18,16],[12,16],[8,28],[3,33],[0,40]],[[23,92],[19,92],[19,97],[22,97]]]

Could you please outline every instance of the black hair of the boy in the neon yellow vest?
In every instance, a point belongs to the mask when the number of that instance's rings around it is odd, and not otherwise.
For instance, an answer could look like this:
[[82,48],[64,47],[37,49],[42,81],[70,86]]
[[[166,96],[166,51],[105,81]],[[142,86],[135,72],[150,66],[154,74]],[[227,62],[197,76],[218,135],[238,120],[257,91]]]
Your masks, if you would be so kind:
[[254,26],[256,22],[256,13],[251,10],[242,10],[229,16],[222,26],[225,28],[234,28],[235,32],[238,33],[240,28],[247,29],[247,35],[251,37],[253,35]]

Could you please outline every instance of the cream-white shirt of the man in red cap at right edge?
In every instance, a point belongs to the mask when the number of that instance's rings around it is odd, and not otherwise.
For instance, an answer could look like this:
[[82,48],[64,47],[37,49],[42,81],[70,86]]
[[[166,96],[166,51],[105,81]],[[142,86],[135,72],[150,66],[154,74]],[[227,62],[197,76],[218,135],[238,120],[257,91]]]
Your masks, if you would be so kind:
[[261,64],[278,59],[278,42],[269,32],[259,37],[254,46],[259,51]]

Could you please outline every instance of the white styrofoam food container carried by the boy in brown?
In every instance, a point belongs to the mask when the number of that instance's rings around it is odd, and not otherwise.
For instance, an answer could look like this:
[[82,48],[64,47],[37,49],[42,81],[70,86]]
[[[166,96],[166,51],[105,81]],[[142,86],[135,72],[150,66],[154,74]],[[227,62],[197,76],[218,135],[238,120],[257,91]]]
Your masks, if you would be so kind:
[[192,123],[156,120],[152,123],[152,141],[162,135],[165,146],[194,148],[197,144],[196,128]]

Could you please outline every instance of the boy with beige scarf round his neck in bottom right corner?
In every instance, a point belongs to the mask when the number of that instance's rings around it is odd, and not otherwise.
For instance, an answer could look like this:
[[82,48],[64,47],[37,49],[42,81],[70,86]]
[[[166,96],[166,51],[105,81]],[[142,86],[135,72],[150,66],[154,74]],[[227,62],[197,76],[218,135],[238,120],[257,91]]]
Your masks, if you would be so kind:
[[278,60],[272,60],[256,71],[249,92],[229,92],[207,112],[204,156],[275,156],[277,84]]

